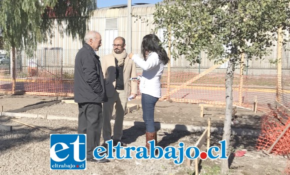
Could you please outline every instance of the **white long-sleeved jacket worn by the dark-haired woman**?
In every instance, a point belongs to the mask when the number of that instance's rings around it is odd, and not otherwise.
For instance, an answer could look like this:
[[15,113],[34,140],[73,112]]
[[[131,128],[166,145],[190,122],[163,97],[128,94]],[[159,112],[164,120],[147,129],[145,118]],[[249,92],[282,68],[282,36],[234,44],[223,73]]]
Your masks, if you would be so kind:
[[141,69],[143,69],[139,84],[140,92],[156,98],[160,98],[160,79],[163,73],[164,64],[160,61],[157,53],[149,53],[146,61],[141,59],[138,55],[134,54],[132,56],[132,60]]

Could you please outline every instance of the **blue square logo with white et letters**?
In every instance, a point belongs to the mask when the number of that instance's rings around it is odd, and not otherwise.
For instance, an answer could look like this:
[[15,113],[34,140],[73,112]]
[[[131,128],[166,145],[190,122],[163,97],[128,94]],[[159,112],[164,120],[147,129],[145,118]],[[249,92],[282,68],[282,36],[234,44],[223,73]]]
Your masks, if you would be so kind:
[[50,169],[85,170],[86,134],[50,134]]

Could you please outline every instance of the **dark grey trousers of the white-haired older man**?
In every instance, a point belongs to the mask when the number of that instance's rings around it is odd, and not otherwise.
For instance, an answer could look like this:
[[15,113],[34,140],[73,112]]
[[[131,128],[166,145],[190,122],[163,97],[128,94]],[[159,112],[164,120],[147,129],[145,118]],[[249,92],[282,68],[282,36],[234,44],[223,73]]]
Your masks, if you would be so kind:
[[77,133],[86,134],[86,158],[93,158],[93,149],[99,146],[102,118],[101,103],[78,103]]

